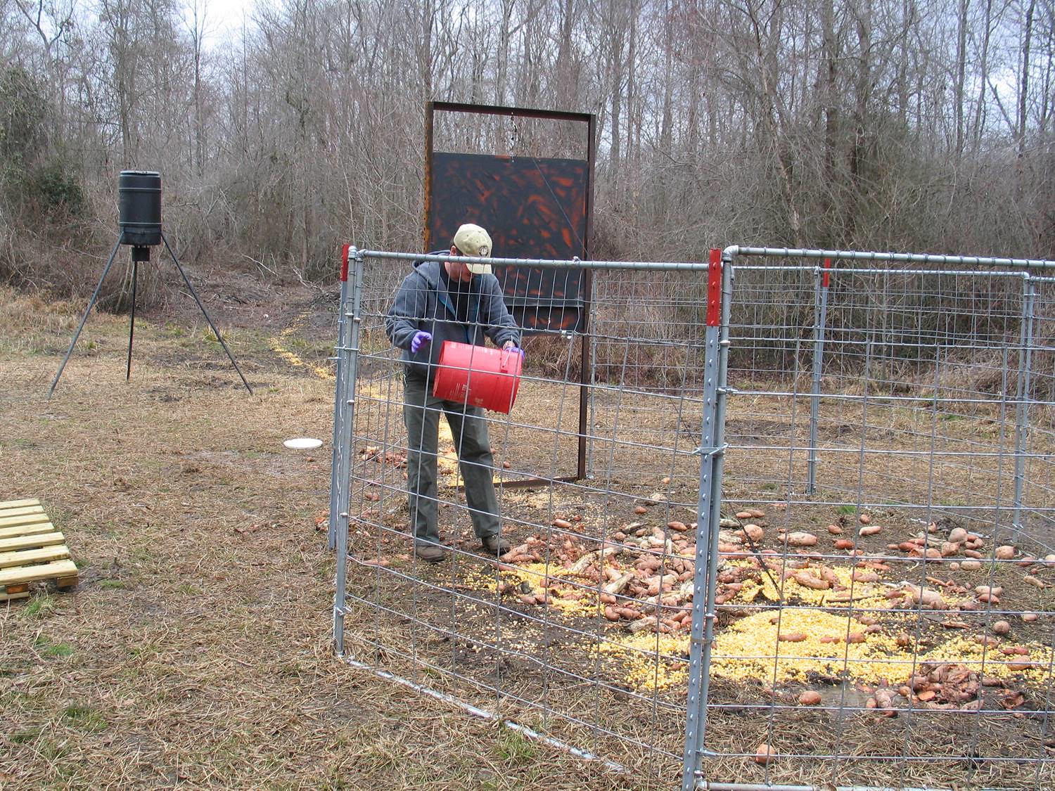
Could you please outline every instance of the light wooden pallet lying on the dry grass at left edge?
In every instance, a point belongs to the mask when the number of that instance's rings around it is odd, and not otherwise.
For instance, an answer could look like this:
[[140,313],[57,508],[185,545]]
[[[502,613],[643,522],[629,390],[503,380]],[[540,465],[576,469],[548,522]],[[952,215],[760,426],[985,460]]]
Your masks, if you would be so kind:
[[54,579],[77,584],[65,537],[55,529],[39,500],[0,502],[0,601],[30,595],[30,583]]

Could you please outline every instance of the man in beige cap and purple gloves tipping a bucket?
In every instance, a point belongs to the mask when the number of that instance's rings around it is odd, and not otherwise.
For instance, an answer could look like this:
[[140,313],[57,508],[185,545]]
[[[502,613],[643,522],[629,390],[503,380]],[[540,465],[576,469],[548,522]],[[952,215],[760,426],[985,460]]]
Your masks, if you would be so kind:
[[[480,226],[458,229],[450,255],[486,258],[491,236]],[[431,255],[444,255],[439,250]],[[473,530],[483,548],[502,555],[510,544],[499,537],[498,498],[493,479],[494,457],[483,410],[433,396],[433,375],[444,341],[484,345],[484,336],[514,353],[520,351],[520,330],[505,308],[498,278],[484,263],[418,261],[400,286],[385,319],[392,344],[403,349],[405,386],[407,499],[415,555],[438,563],[440,547],[436,497],[436,460],[440,410],[447,417],[465,481],[465,500]]]

